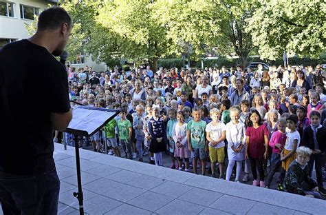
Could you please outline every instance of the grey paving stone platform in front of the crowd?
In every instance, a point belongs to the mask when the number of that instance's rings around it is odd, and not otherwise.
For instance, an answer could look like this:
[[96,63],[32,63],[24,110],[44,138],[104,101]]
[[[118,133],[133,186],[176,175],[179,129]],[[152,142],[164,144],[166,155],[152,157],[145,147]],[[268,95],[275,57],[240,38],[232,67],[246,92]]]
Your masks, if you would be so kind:
[[[58,214],[79,214],[74,147],[55,143]],[[326,201],[80,150],[85,214],[325,214]],[[0,210],[0,214],[2,214]]]

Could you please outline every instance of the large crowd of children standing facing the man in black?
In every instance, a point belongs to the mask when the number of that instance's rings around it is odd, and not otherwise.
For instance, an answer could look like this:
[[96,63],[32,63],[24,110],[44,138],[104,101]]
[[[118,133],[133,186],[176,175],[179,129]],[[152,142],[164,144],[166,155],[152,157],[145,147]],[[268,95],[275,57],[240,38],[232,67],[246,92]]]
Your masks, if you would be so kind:
[[[269,71],[259,66],[254,72],[240,67],[180,73],[116,69],[102,72],[95,85],[78,81],[83,75],[72,72],[72,99],[120,110],[103,135],[91,137],[94,151],[103,152],[107,144],[109,154],[138,156],[142,162],[149,155],[149,163],[159,166],[169,154],[173,169],[198,174],[200,168],[203,175],[228,181],[235,175],[237,183],[250,180],[251,172],[252,185],[267,188],[280,171],[278,190],[326,195],[326,96],[319,65]],[[307,81],[292,86],[296,79]],[[313,168],[317,182],[311,178]]]

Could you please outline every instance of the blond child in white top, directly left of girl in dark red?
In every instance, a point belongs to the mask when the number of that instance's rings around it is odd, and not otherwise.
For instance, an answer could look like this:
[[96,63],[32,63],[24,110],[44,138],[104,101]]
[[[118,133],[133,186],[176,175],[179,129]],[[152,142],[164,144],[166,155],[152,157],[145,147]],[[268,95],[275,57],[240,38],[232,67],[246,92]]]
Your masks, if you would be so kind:
[[230,181],[233,166],[237,162],[235,182],[239,182],[242,161],[244,160],[244,144],[246,143],[246,126],[239,121],[239,109],[230,109],[231,121],[226,124],[226,140],[228,141],[228,168],[226,169],[226,180]]

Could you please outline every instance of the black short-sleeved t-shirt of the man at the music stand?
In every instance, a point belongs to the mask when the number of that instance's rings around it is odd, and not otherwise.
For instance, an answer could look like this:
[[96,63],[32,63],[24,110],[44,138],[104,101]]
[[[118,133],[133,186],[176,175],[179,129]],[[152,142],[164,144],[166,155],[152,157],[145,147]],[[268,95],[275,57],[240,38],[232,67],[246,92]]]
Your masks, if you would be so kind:
[[70,109],[67,72],[45,48],[24,39],[0,50],[0,174],[53,170],[50,113]]

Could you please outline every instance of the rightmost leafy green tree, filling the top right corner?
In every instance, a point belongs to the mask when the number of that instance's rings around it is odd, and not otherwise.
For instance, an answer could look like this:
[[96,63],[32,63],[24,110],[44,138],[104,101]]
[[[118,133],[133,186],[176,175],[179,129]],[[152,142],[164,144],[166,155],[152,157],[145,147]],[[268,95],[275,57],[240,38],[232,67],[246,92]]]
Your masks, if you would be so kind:
[[248,33],[261,59],[279,59],[284,50],[317,57],[326,45],[325,14],[323,0],[259,0]]

